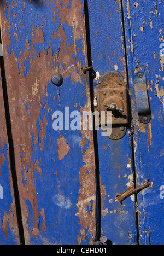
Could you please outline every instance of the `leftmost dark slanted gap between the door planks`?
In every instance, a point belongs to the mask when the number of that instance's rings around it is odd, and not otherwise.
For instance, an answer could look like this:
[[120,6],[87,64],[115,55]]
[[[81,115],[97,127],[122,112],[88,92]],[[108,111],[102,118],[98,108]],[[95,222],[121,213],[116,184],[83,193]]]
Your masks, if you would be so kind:
[[[0,43],[2,44],[1,30],[0,30]],[[2,55],[3,54],[1,54],[1,57],[0,57],[0,66],[1,66],[5,119],[6,119],[7,136],[8,136],[8,143],[9,143],[10,168],[11,168],[12,179],[13,179],[13,189],[14,189],[14,197],[15,197],[15,206],[16,206],[16,214],[17,214],[17,224],[18,224],[18,228],[19,228],[20,243],[21,243],[21,245],[25,245],[19,188],[18,188],[18,184],[17,184],[17,175],[16,175],[16,168],[15,168],[15,153],[14,153],[13,136],[12,136],[12,131],[11,131],[11,119],[10,119],[10,110],[9,110],[8,93],[7,93],[7,82],[6,82],[6,77],[5,77],[4,59],[3,59]]]

